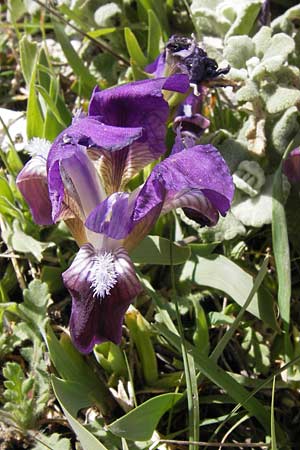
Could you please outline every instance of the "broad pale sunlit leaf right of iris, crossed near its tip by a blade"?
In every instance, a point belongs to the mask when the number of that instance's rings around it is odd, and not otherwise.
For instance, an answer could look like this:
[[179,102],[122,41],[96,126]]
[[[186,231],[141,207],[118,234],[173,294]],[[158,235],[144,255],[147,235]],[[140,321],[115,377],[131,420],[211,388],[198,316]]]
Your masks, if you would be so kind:
[[[222,255],[213,254],[206,258],[198,256],[195,261],[188,261],[183,268],[181,279],[190,277],[200,286],[219,289],[240,306],[244,305],[253,288],[252,276]],[[264,287],[255,294],[247,311],[278,330],[273,298]]]

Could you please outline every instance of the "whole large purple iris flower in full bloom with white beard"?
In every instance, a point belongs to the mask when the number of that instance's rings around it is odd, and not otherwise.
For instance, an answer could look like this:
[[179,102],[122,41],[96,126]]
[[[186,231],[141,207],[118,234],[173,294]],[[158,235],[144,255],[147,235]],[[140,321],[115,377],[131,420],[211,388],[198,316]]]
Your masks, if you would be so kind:
[[173,153],[142,187],[122,192],[165,151],[168,105],[161,89],[186,86],[186,77],[176,75],[96,89],[88,116],[77,117],[48,157],[36,156],[18,176],[34,218],[65,220],[80,246],[63,280],[72,296],[70,333],[82,353],[96,343],[120,342],[124,314],[142,289],[128,252],[160,214],[182,207],[212,225],[230,206],[232,179],[210,145]]

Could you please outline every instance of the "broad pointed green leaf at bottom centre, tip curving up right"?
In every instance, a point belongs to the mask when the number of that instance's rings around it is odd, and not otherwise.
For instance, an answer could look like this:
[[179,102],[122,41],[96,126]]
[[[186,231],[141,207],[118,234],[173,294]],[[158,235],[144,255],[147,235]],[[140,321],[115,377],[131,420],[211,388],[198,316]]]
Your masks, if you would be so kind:
[[161,416],[181,397],[182,394],[175,393],[157,395],[111,423],[108,429],[125,439],[147,441],[151,438]]

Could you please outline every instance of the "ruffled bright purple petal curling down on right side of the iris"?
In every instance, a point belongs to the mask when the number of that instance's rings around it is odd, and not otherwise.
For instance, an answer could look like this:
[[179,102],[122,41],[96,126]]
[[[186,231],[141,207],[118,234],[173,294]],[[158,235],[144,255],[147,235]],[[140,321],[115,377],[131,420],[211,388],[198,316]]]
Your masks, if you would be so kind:
[[200,223],[206,218],[214,224],[218,212],[225,215],[228,211],[233,192],[231,175],[219,152],[211,145],[198,145],[175,153],[154,167],[137,197],[133,220],[139,222],[154,204],[163,200],[162,213],[190,208],[194,218],[199,215]]

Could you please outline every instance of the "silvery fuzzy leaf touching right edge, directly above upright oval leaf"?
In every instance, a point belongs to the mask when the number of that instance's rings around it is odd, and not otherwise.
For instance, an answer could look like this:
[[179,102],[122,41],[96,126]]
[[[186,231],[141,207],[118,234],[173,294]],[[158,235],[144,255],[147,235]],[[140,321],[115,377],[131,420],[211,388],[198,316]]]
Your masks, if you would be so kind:
[[278,86],[271,95],[267,89],[262,89],[262,96],[269,114],[280,113],[300,102],[300,91],[296,88]]

